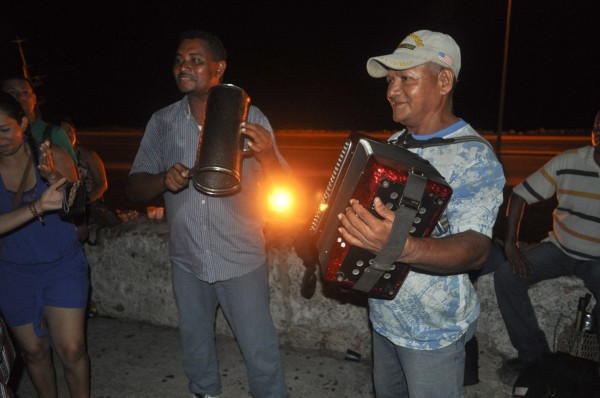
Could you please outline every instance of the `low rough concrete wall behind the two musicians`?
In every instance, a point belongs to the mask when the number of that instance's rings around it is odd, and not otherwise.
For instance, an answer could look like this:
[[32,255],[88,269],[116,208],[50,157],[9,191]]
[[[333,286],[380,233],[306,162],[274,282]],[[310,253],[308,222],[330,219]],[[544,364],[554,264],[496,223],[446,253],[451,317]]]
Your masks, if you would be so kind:
[[[121,226],[99,231],[95,246],[85,246],[90,262],[92,298],[102,316],[127,318],[177,327],[178,316],[171,286],[166,222],[139,217]],[[366,300],[318,282],[310,300],[300,294],[304,265],[289,239],[276,240],[268,249],[271,312],[280,343],[302,348],[370,356],[371,336]],[[478,333],[488,336],[491,349],[504,356],[515,354],[497,309],[493,276],[476,284],[482,315]],[[576,278],[542,282],[530,291],[538,319],[553,346],[566,326],[574,321],[577,300],[587,290]],[[221,311],[218,334],[231,335]]]

